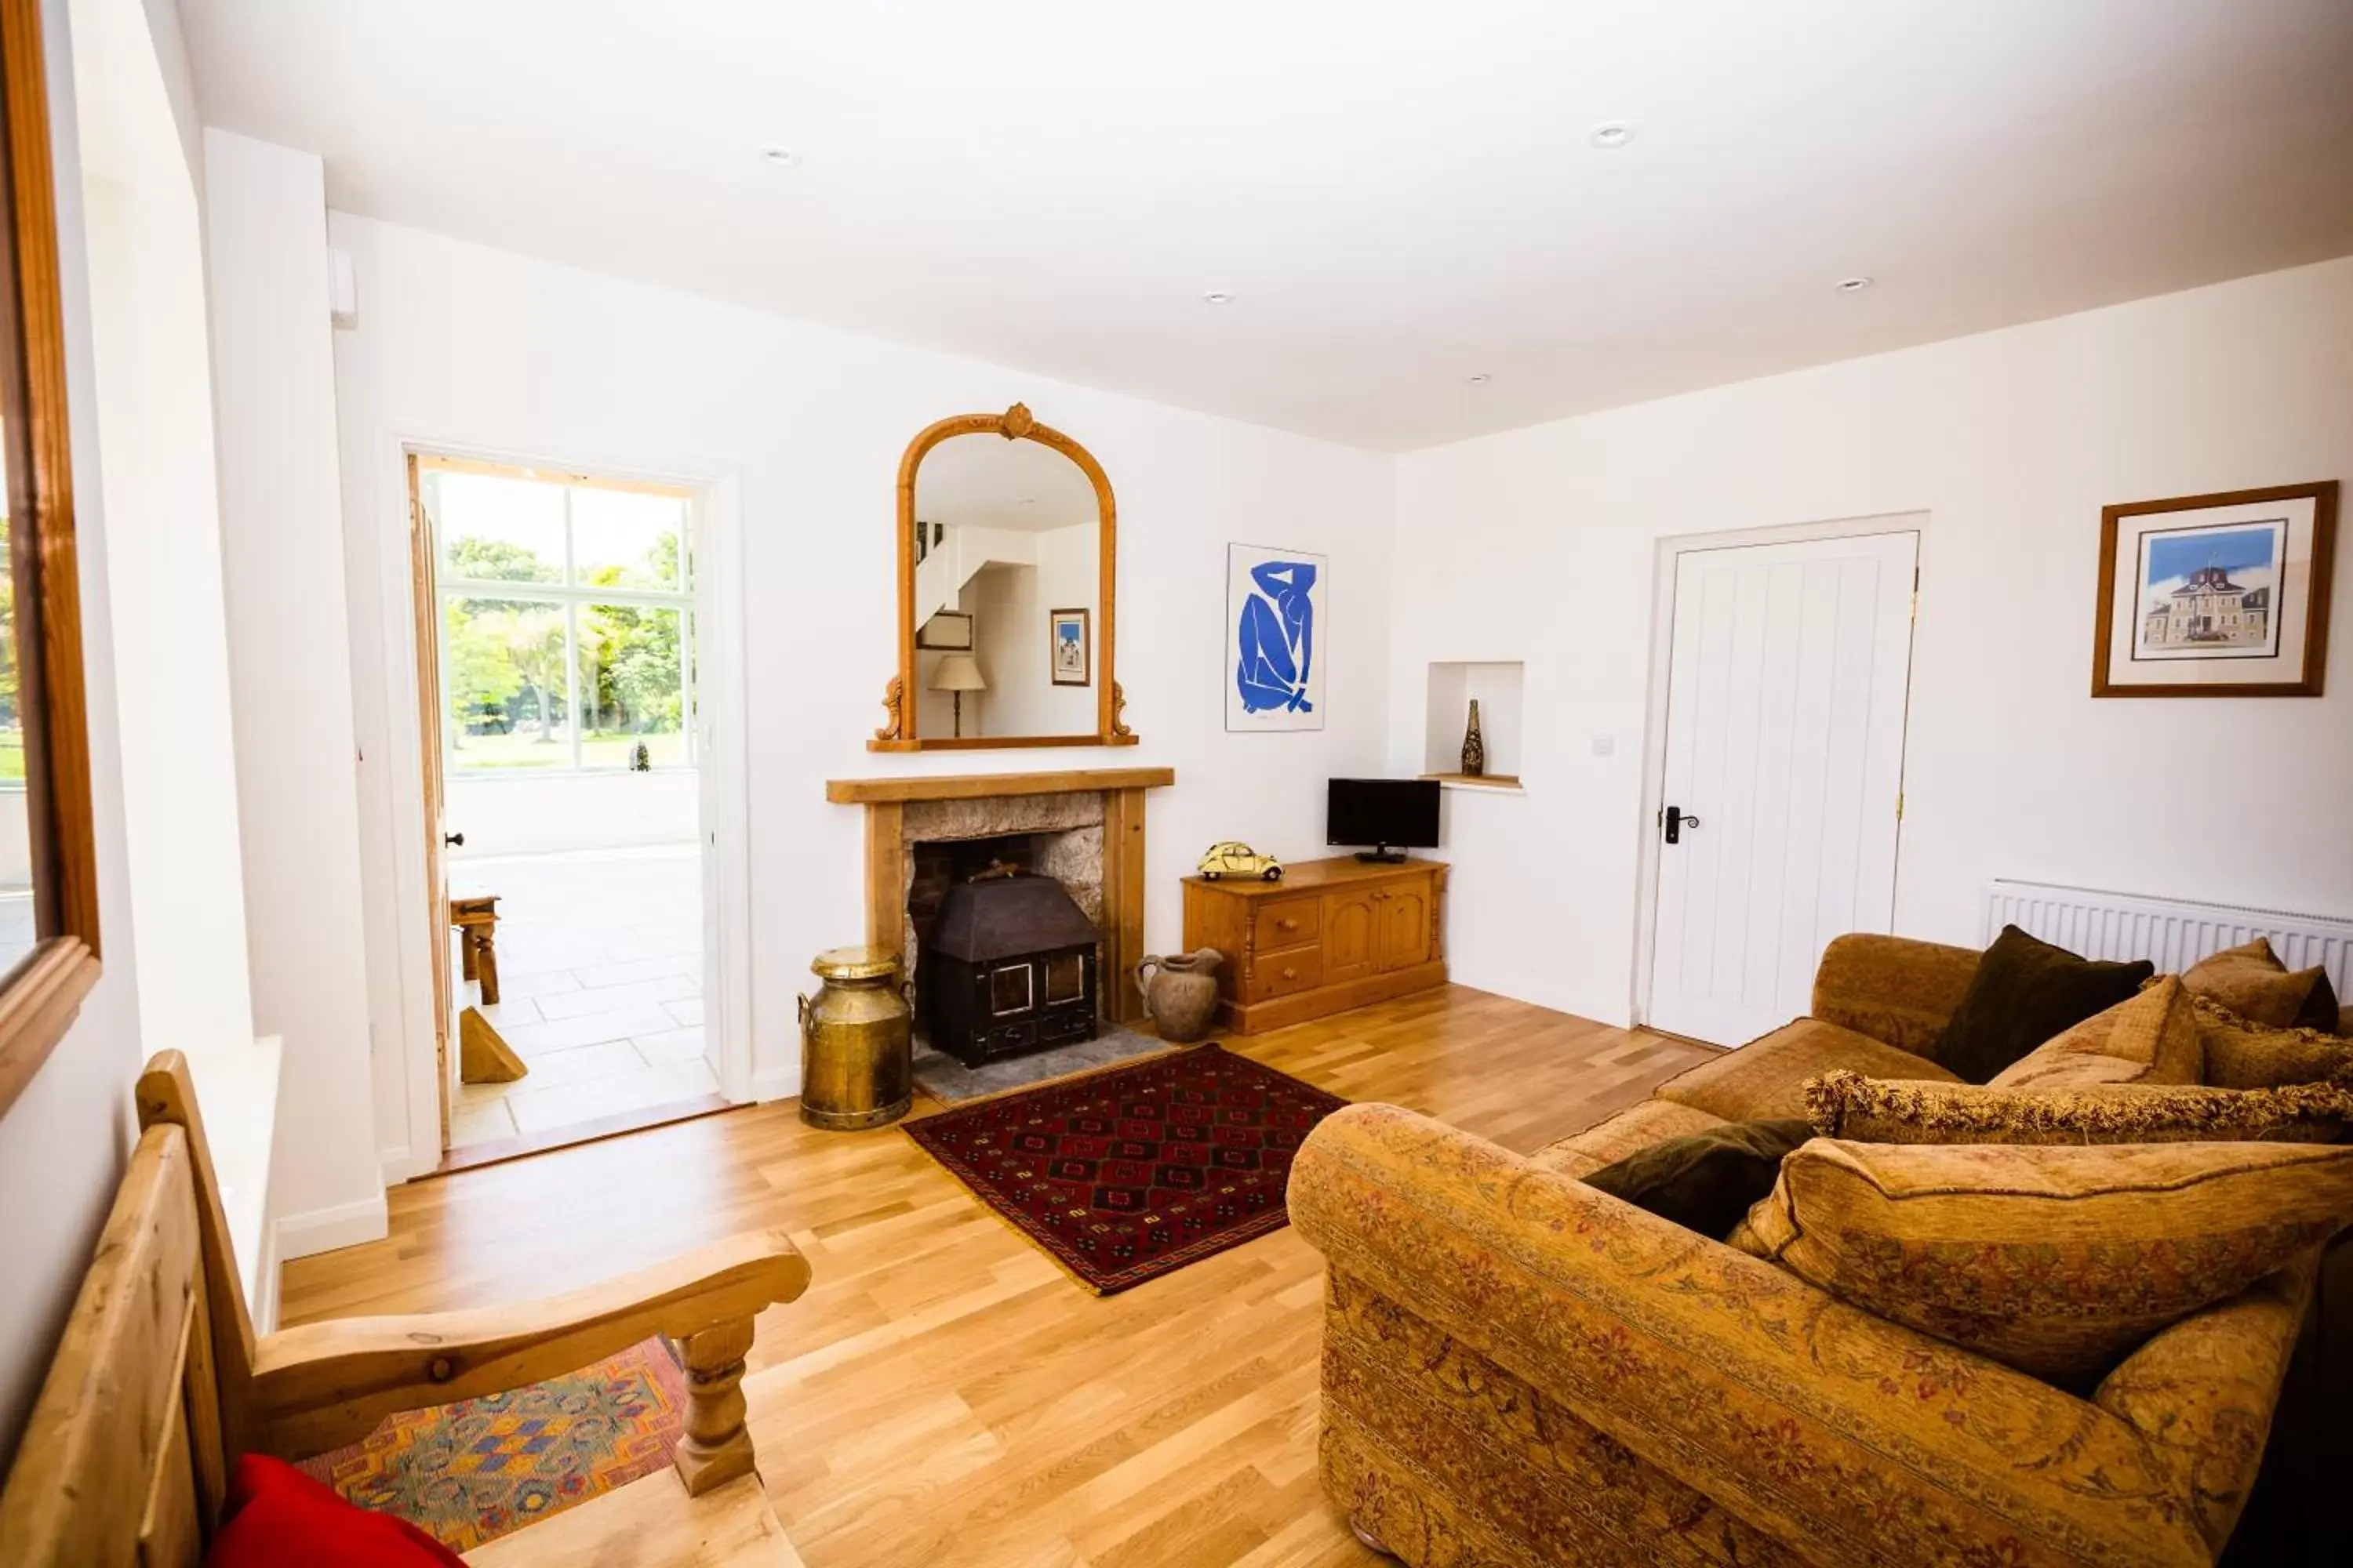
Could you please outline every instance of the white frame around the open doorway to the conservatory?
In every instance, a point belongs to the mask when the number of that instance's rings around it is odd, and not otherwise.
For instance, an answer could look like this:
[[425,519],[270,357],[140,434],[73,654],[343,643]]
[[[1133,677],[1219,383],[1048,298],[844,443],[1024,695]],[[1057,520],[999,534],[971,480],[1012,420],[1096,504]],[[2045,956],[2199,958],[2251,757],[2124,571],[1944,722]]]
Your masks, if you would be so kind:
[[[416,529],[421,520],[412,515],[412,454],[442,458],[496,463],[504,468],[539,468],[544,473],[576,473],[593,480],[621,484],[661,484],[685,489],[692,505],[692,555],[694,555],[694,722],[696,722],[696,830],[701,835],[704,879],[704,1027],[718,1030],[718,1048],[711,1051],[720,1079],[720,1093],[734,1103],[774,1098],[781,1084],[776,1072],[758,1072],[755,1041],[751,1027],[751,783],[746,762],[746,654],[744,654],[744,487],[732,468],[694,465],[640,465],[605,458],[586,458],[548,449],[499,449],[480,442],[438,440],[431,435],[395,435],[388,440],[388,480],[398,491],[398,515],[407,520],[402,548],[409,555],[400,609],[388,618],[398,637],[398,654],[407,679],[386,682],[386,701],[393,708],[393,741],[407,738],[416,745],[414,769],[419,795],[398,790],[393,799],[393,849],[402,865],[400,882],[409,889],[395,898],[395,919],[407,926],[398,940],[398,978],[402,994],[402,1086],[407,1147],[400,1168],[386,1164],[384,1178],[412,1180],[433,1173],[447,1143],[447,1051],[445,1020],[440,1013],[438,966],[447,966],[447,931],[435,924],[435,872],[440,846],[433,837],[433,780],[440,780],[440,757],[426,755],[426,745],[438,745],[438,637],[428,649],[421,637],[440,618],[435,602],[421,599],[433,578],[424,571],[431,562],[416,559]],[[431,658],[431,663],[428,663]],[[426,696],[426,682],[435,682],[435,696]],[[400,712],[400,710],[407,712]],[[402,724],[405,719],[405,724]],[[398,769],[395,769],[398,773]],[[431,773],[431,780],[426,778]],[[405,797],[405,799],[402,799]],[[440,940],[426,940],[440,936]],[[419,1027],[421,1025],[421,1027]],[[762,1093],[765,1091],[765,1093]]]

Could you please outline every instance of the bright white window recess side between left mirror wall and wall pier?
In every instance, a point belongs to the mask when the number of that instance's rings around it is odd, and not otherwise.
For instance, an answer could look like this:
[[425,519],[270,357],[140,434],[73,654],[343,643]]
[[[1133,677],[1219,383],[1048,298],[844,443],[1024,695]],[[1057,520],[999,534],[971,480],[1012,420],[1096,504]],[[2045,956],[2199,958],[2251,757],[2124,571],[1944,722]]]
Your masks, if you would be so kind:
[[205,252],[141,0],[75,0],[73,14],[141,1013],[169,1020],[212,1095],[254,1048],[254,1009]]

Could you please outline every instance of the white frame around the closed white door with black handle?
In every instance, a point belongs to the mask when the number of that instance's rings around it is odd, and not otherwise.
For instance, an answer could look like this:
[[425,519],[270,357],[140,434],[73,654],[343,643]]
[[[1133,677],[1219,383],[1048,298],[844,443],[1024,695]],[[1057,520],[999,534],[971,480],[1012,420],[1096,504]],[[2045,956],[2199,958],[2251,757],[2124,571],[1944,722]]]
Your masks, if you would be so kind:
[[1913,635],[1904,658],[1904,745],[1897,764],[1897,886],[1904,879],[1904,769],[1911,766],[1911,682],[1920,646],[1920,583],[1927,574],[1929,529],[1927,510],[1873,512],[1866,517],[1831,517],[1824,522],[1786,522],[1755,529],[1720,529],[1715,534],[1668,534],[1654,545],[1652,557],[1652,604],[1649,604],[1649,682],[1642,701],[1642,816],[1635,823],[1640,849],[1635,853],[1633,898],[1633,973],[1626,978],[1628,1018],[1635,1027],[1649,1027],[1649,971],[1652,947],[1659,926],[1659,813],[1666,811],[1666,703],[1668,672],[1675,661],[1675,578],[1678,557],[1701,550],[1737,550],[1744,545],[1795,545],[1817,538],[1871,538],[1875,534],[1918,534],[1920,548],[1913,557]]

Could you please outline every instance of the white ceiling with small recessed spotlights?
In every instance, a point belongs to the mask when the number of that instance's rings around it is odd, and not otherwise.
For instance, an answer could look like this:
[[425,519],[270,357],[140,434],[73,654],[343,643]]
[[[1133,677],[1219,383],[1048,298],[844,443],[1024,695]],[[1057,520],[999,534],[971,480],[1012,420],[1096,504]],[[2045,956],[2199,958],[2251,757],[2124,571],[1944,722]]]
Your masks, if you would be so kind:
[[181,9],[346,212],[1369,447],[2353,252],[2348,0]]

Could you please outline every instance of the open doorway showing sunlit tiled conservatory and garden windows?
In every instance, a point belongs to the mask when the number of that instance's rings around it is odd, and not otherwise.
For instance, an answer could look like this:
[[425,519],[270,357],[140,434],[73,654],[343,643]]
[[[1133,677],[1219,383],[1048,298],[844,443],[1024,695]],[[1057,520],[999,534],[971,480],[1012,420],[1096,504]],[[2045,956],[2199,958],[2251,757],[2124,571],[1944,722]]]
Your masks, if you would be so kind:
[[720,1110],[689,487],[409,451],[442,1168]]

